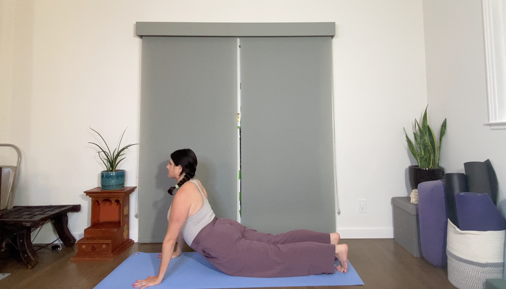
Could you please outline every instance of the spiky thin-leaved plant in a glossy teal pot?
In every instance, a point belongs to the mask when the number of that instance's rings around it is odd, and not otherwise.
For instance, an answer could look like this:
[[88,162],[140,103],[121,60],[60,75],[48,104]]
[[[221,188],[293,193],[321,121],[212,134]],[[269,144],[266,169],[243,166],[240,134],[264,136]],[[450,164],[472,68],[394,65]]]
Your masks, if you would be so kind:
[[126,146],[123,146],[123,148],[120,148],[121,141],[123,140],[123,136],[125,135],[126,128],[123,131],[123,134],[121,134],[121,139],[119,139],[118,147],[114,148],[114,150],[111,152],[109,146],[107,146],[107,142],[102,137],[102,135],[94,130],[93,128],[90,128],[96,134],[98,134],[98,137],[100,137],[105,144],[104,149],[103,146],[98,145],[97,143],[89,141],[89,143],[97,146],[98,148],[98,157],[101,159],[103,164],[105,165],[105,170],[101,171],[101,187],[103,190],[119,190],[123,189],[125,187],[125,170],[118,170],[118,165],[125,159],[124,155],[126,153],[126,150],[130,148],[130,146],[135,146],[139,143],[130,143]]

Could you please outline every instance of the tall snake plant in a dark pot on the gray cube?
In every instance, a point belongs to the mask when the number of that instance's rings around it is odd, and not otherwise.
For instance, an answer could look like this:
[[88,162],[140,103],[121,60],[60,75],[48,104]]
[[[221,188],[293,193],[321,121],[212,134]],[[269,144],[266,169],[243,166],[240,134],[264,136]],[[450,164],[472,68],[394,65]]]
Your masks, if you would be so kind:
[[417,189],[421,182],[433,181],[444,177],[444,168],[439,166],[441,158],[441,143],[446,133],[446,119],[444,119],[439,129],[439,143],[433,130],[427,122],[427,107],[424,116],[421,119],[421,125],[415,119],[415,129],[413,131],[414,142],[404,129],[406,141],[411,154],[417,160],[417,166],[409,166],[409,177],[411,189]]

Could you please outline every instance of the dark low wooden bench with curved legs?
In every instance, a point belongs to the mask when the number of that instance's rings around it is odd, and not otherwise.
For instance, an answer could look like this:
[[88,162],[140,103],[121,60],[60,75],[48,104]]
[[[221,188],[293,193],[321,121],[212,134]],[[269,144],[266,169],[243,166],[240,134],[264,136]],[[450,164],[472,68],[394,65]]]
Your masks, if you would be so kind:
[[64,204],[58,206],[17,206],[0,211],[0,231],[19,251],[21,260],[28,268],[37,265],[37,253],[33,249],[31,232],[51,220],[58,236],[67,247],[76,243],[69,231],[69,212],[81,210],[80,204]]

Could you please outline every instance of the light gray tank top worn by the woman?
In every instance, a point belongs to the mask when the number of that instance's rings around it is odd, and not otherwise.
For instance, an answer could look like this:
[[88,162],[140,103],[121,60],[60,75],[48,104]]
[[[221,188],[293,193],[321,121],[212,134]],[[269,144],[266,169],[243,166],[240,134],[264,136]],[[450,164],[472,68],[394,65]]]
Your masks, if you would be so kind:
[[[181,229],[184,241],[186,244],[191,246],[191,243],[197,236],[198,232],[200,232],[203,227],[206,227],[216,215],[214,214],[213,209],[211,209],[211,205],[209,204],[209,201],[205,197],[204,193],[202,193],[202,189],[200,189],[198,182],[195,181],[195,179],[191,179],[189,182],[193,182],[193,184],[197,185],[198,191],[200,191],[200,195],[202,195],[202,200],[204,201],[202,208],[200,208],[200,210],[198,210],[195,215],[189,216]],[[169,208],[167,213],[167,220],[170,215],[171,209]]]

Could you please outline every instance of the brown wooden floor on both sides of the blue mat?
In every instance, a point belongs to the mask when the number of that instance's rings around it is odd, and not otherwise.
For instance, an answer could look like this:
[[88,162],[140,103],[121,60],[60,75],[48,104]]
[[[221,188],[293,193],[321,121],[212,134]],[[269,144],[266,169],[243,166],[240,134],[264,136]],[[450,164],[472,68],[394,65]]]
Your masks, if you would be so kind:
[[[349,245],[349,260],[365,286],[297,288],[455,288],[448,282],[446,269],[434,267],[424,259],[411,256],[393,239],[347,239],[341,243]],[[53,251],[51,247],[46,247],[37,252],[39,264],[32,269],[26,269],[23,264],[12,258],[0,259],[0,273],[11,274],[0,280],[0,288],[91,289],[130,254],[160,252],[161,249],[161,244],[135,243],[113,261],[73,263],[70,258],[75,254],[75,248],[63,247],[61,251]]]

